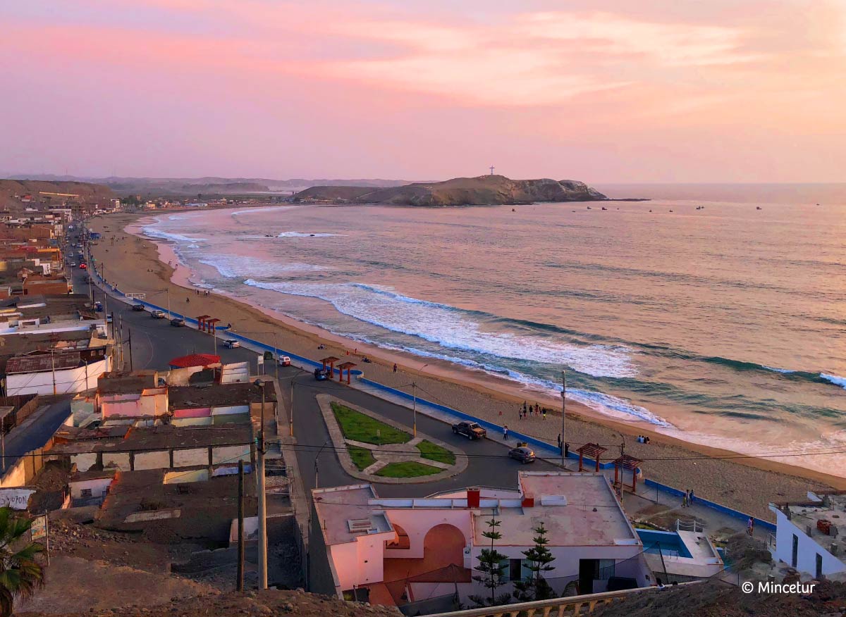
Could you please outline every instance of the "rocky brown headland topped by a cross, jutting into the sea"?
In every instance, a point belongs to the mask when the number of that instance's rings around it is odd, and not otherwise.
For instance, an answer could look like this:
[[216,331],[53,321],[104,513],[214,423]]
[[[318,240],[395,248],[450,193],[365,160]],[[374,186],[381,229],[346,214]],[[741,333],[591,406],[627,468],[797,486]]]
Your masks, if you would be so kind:
[[316,186],[294,195],[294,201],[333,201],[385,205],[502,205],[539,201],[601,201],[605,195],[575,180],[512,180],[505,176],[455,177],[437,183],[365,188]]

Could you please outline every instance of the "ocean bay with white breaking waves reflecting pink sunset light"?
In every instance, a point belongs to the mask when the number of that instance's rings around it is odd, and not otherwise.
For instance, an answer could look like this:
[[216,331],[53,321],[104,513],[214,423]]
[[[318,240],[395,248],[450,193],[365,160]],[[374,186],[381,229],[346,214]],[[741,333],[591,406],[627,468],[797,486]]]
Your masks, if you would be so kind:
[[[200,287],[609,418],[846,475],[846,185],[157,216]],[[602,208],[607,210],[602,210]],[[791,456],[783,456],[791,455]]]

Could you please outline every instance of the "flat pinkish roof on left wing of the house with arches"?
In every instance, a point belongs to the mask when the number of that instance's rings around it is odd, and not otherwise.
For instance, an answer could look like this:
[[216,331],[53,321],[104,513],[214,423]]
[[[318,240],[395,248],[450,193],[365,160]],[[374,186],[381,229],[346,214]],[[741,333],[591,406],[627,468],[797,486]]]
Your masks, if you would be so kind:
[[372,533],[393,533],[384,512],[370,505],[376,499],[371,484],[314,489],[311,494],[327,546],[355,542]]

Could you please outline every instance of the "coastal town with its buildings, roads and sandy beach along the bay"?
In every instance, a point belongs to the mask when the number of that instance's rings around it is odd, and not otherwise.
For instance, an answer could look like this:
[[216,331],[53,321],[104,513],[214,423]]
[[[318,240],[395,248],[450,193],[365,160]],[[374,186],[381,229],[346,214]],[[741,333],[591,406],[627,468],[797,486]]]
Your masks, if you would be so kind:
[[291,196],[52,188],[0,210],[14,614],[843,614],[843,478],[444,379],[139,227]]

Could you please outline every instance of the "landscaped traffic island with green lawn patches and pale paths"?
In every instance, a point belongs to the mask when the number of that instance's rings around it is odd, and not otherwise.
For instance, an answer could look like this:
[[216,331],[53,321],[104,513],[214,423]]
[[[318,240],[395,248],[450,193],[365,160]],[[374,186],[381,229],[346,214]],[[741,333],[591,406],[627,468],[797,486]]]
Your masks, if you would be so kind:
[[428,435],[411,434],[401,424],[369,410],[318,395],[317,402],[349,475],[377,483],[431,482],[454,476],[467,467],[446,444]]

